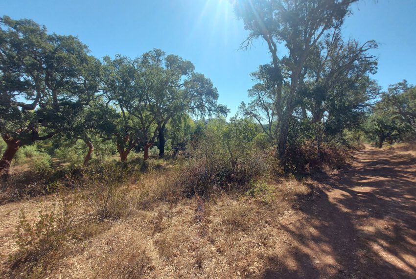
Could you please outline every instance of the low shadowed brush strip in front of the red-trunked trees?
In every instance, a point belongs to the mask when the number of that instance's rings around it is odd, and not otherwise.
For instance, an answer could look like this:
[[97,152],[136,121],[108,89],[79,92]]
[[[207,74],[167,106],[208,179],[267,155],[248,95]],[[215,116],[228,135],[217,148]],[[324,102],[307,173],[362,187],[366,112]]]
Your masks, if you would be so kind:
[[[33,161],[37,162],[37,159],[39,158],[34,158]],[[22,161],[23,159],[19,160]],[[80,188],[81,184],[83,184],[83,187],[88,187],[88,185],[94,183],[99,184],[101,178],[98,176],[103,172],[108,173],[113,170],[122,170],[125,184],[136,184],[139,182],[140,174],[161,170],[173,163],[173,161],[160,159],[143,162],[141,158],[134,158],[128,163],[102,161],[92,163],[89,166],[68,164],[50,167],[50,165],[43,166],[42,162],[32,163],[37,167],[30,164],[13,166],[14,170],[7,179],[0,180],[0,205],[51,194],[61,187]],[[94,174],[97,174],[95,178],[93,177]],[[88,184],[84,183],[83,179],[92,181]],[[103,180],[105,181],[105,176]]]

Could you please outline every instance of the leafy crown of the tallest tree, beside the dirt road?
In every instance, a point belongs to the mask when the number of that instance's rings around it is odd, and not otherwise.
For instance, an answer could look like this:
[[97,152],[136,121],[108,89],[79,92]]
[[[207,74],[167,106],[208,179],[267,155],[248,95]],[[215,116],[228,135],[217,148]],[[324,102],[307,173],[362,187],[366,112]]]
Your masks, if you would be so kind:
[[[311,124],[324,124],[325,133],[340,133],[356,123],[372,98],[368,75],[377,63],[368,52],[377,45],[344,42],[341,36],[341,25],[355,1],[234,1],[236,15],[249,31],[242,47],[262,39],[271,55],[269,64],[252,73],[258,83],[249,90],[252,101],[242,103],[240,110],[277,141],[280,158],[286,157],[291,144],[293,118],[310,117]],[[318,145],[321,134],[315,135]]]

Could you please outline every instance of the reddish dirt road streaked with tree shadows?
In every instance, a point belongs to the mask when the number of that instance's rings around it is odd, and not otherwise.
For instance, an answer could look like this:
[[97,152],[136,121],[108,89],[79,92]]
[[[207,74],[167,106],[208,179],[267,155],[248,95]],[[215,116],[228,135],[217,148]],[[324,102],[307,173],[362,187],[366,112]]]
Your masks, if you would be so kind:
[[416,163],[368,148],[281,225],[263,278],[416,278]]

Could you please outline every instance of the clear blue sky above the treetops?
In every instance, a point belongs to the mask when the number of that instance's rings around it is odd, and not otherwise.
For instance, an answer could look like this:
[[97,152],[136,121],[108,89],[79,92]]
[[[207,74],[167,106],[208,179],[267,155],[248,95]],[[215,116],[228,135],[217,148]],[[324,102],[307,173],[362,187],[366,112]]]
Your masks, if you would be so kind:
[[[384,89],[402,79],[416,83],[415,13],[416,0],[362,0],[345,22],[346,37],[379,43],[374,78]],[[247,31],[228,0],[0,0],[0,15],[76,35],[99,58],[155,47],[180,55],[212,80],[231,115],[247,101],[249,73],[270,61],[261,41],[238,49]]]

